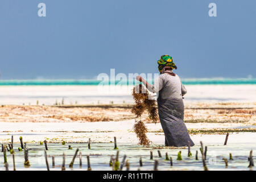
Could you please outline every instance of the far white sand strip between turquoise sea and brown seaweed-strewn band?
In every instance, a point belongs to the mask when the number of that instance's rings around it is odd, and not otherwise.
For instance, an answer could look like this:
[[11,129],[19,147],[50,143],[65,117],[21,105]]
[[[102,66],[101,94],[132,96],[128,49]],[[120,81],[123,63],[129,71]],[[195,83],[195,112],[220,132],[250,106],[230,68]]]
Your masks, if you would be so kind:
[[[184,102],[256,102],[256,85],[185,85]],[[132,86],[1,86],[0,104],[52,105],[133,103]]]

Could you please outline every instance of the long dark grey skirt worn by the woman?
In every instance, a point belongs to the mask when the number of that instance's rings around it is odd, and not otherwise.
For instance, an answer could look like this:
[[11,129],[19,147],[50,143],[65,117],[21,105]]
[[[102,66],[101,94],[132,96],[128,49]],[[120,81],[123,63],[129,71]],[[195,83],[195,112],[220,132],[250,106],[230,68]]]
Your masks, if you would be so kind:
[[188,146],[188,141],[190,146],[195,145],[189,137],[187,127],[183,121],[183,100],[158,98],[158,114],[166,137],[166,146]]

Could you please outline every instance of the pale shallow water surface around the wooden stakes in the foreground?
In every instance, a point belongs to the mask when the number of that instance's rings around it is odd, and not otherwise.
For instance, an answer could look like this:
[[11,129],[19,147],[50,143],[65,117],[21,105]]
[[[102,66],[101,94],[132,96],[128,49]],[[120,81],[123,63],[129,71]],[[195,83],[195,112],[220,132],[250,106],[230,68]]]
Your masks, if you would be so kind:
[[[206,143],[207,144],[207,143]],[[71,145],[73,150],[68,150],[68,145]],[[46,160],[44,158],[44,145],[40,144],[27,144],[28,159],[30,160],[31,166],[25,168],[24,163],[24,152],[18,152],[19,144],[14,144],[15,150],[15,166],[16,170],[46,170]],[[163,147],[163,146],[158,146]],[[247,160],[250,150],[256,150],[256,143],[236,143],[228,144],[226,146],[221,144],[207,144],[207,167],[209,170],[249,170],[247,167],[249,162]],[[73,165],[73,168],[69,168],[73,155],[75,154],[76,148],[82,152],[82,167],[79,167],[79,153]],[[159,161],[159,170],[203,170],[203,163],[201,160],[200,146],[191,147],[192,157],[188,158],[187,148],[163,148],[155,149],[152,147],[140,147],[137,144],[122,143],[118,144],[119,148],[119,161],[122,162],[124,154],[130,163],[130,170],[152,170],[154,168],[154,160],[150,160],[150,150],[153,151],[154,159]],[[158,156],[158,150],[162,154],[162,158]],[[199,152],[199,160],[195,160],[196,150]],[[177,160],[177,152],[181,151],[183,160]],[[86,155],[90,155],[90,164],[92,170],[112,170],[109,167],[109,160],[111,155],[115,155],[117,150],[114,150],[113,143],[91,143],[91,149],[88,149],[87,143],[66,143],[65,145],[57,143],[48,143],[48,163],[50,170],[60,170],[63,152],[66,155],[66,170],[86,170],[87,159]],[[166,152],[169,157],[172,157],[173,166],[170,166],[170,161],[164,160],[166,158]],[[233,160],[229,160],[229,152],[233,155]],[[1,154],[3,156],[3,153]],[[55,168],[52,168],[52,158],[55,155]],[[142,157],[143,167],[139,167],[139,158]],[[225,163],[222,158],[228,159],[229,166],[225,168]],[[3,157],[2,157],[3,160]],[[255,160],[255,158],[254,158]],[[13,158],[10,152],[7,152],[7,161],[9,163],[9,170],[13,170]],[[255,167],[252,168],[255,170]],[[5,170],[4,164],[0,165],[0,170]],[[124,168],[125,170],[125,168]]]

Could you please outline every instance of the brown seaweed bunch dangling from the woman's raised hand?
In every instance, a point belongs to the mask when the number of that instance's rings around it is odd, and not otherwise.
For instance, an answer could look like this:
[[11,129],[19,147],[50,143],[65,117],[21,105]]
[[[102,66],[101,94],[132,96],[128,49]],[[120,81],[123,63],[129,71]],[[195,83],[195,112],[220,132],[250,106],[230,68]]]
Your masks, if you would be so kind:
[[158,113],[155,107],[156,101],[148,99],[148,91],[144,86],[142,86],[142,84],[134,86],[132,95],[135,105],[131,109],[131,113],[135,114],[135,118],[139,118],[139,121],[135,120],[133,128],[139,138],[139,144],[149,146],[150,141],[146,135],[148,130],[141,121],[141,115],[145,110],[147,110],[148,117],[152,119],[152,121],[156,122],[158,119]]

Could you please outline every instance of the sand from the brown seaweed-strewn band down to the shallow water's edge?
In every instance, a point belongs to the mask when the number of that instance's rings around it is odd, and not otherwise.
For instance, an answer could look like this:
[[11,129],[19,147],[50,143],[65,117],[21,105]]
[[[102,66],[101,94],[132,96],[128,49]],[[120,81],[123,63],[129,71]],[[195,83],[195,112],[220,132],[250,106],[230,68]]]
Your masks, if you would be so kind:
[[[195,142],[222,143],[230,133],[229,142],[255,142],[255,103],[187,103],[185,125]],[[11,135],[19,143],[23,136],[28,143],[48,142],[119,142],[137,143],[133,132],[131,105],[3,105],[0,109],[0,142],[9,143]],[[148,138],[163,144],[164,133],[159,123],[152,123],[147,114],[142,120],[149,130]]]

